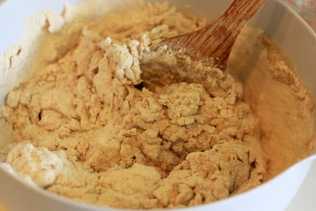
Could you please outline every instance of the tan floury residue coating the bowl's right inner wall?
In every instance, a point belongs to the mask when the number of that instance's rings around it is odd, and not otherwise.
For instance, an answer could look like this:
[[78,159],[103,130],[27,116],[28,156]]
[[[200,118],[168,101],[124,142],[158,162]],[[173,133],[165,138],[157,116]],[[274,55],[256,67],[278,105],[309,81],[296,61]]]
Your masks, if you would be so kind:
[[245,28],[228,68],[242,82],[243,99],[260,120],[260,141],[268,158],[266,179],[315,153],[315,98],[301,84],[287,55],[262,30]]

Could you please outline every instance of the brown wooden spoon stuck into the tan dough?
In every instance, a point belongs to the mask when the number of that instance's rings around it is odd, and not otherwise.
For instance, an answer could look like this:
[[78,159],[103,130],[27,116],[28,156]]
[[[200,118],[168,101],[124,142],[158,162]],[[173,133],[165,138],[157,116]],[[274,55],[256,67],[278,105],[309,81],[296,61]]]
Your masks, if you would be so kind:
[[211,59],[213,66],[225,70],[237,36],[264,2],[234,0],[220,17],[204,28],[164,40],[152,46],[151,50],[155,51],[166,44],[167,49],[181,50],[194,60]]

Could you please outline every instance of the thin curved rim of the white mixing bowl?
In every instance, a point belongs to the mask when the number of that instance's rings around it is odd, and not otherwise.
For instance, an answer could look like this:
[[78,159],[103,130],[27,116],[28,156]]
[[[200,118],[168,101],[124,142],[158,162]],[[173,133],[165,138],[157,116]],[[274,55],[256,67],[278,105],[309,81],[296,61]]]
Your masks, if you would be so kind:
[[[12,3],[12,1],[15,1],[15,0],[4,0],[3,2],[0,2],[0,10],[2,9],[2,7],[5,7],[7,4]],[[315,39],[315,43],[316,43],[316,31],[314,31],[311,28],[311,26],[309,26],[305,22],[305,20],[298,13],[296,13],[292,8],[290,8],[287,4],[285,4],[284,2],[282,2],[280,0],[274,0],[274,1],[275,1],[275,3],[280,4],[287,12],[291,13],[291,15],[293,15],[293,17],[295,17],[297,20],[299,20],[299,22],[306,28],[308,33],[310,33],[312,35],[312,37]],[[250,190],[247,190],[247,191],[242,192],[240,194],[231,196],[229,198],[222,199],[222,200],[215,201],[215,202],[208,203],[208,204],[194,206],[194,207],[177,208],[177,209],[172,209],[172,210],[174,210],[174,211],[186,211],[186,210],[188,210],[189,211],[190,209],[193,209],[193,208],[194,209],[201,209],[201,210],[203,208],[204,209],[205,208],[211,209],[212,207],[220,206],[223,203],[227,203],[227,202],[232,203],[232,202],[238,201],[240,198],[245,198],[249,194],[252,194],[255,191],[259,191],[261,189],[264,189],[269,184],[282,178],[283,175],[288,174],[288,173],[292,172],[293,170],[295,170],[298,166],[301,166],[301,165],[304,165],[307,163],[312,163],[313,160],[316,160],[316,154],[310,155],[310,156],[302,159],[301,161],[299,161],[299,162],[295,163],[294,165],[290,166],[289,168],[285,169],[284,171],[277,174],[275,177],[271,178],[270,180],[264,182],[263,184],[260,184],[259,186],[251,188]],[[24,186],[25,188],[29,189],[31,192],[36,192],[36,193],[42,195],[43,197],[49,198],[50,200],[53,200],[53,201],[58,201],[59,203],[68,204],[70,206],[78,207],[80,209],[93,210],[93,211],[104,211],[104,209],[107,209],[108,211],[125,211],[125,210],[127,210],[127,209],[119,209],[119,208],[112,208],[112,207],[107,207],[107,206],[87,204],[84,202],[75,201],[73,199],[49,192],[49,191],[42,189],[40,187],[26,183],[22,177],[8,172],[8,170],[3,168],[1,165],[0,165],[0,173],[4,173],[7,176],[11,177],[11,179],[13,179],[17,184]],[[159,211],[159,210],[161,210],[161,209],[157,209],[157,211]],[[163,209],[163,210],[165,210],[165,209]]]

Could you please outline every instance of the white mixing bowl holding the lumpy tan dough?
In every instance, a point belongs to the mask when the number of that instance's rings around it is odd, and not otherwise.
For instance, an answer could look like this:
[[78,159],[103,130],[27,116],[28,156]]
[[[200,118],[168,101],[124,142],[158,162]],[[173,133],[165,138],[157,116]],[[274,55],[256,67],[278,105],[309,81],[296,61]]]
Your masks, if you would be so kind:
[[[17,43],[21,36],[21,20],[29,13],[50,7],[60,12],[63,2],[82,0],[11,0],[0,7],[0,51],[10,43]],[[169,0],[179,7],[193,5],[209,19],[217,17],[232,0]],[[267,0],[249,23],[265,31],[276,44],[289,55],[295,64],[302,82],[316,96],[316,35],[312,29],[290,8],[280,1]],[[3,26],[5,28],[3,28]],[[10,81],[0,73],[0,99]],[[0,142],[6,142],[3,138]],[[284,210],[302,184],[311,167],[312,157],[306,158],[275,178],[250,191],[228,199],[187,208],[181,211],[281,211]],[[30,187],[19,178],[0,169],[0,199],[8,211],[118,211],[78,203],[57,196],[40,188]]]

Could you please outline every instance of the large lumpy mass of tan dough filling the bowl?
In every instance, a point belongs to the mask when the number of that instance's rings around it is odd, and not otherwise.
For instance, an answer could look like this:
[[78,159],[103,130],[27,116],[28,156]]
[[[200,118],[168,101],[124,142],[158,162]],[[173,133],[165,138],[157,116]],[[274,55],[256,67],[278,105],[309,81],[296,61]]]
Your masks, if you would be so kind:
[[196,206],[264,182],[242,84],[164,47],[150,52],[207,20],[167,3],[133,14],[146,18],[112,14],[115,27],[102,33],[83,27],[78,45],[7,94],[1,114],[14,143],[0,161],[50,192],[128,209]]

